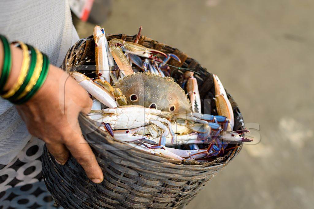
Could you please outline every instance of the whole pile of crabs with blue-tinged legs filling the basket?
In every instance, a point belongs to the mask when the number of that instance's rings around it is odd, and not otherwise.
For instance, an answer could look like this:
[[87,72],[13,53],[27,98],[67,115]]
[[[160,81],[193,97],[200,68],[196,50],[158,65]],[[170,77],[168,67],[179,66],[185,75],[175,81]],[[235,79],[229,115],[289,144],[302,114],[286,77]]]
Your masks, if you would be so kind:
[[208,161],[234,149],[227,147],[230,141],[252,141],[244,137],[248,130],[233,131],[232,107],[219,78],[213,75],[218,115],[202,114],[194,72],[184,72],[183,88],[177,84],[167,61],[181,60],[138,44],[141,29],[134,43],[122,39],[108,43],[104,29],[95,27],[97,77],[70,72],[93,98],[88,117],[116,140],[172,159]]

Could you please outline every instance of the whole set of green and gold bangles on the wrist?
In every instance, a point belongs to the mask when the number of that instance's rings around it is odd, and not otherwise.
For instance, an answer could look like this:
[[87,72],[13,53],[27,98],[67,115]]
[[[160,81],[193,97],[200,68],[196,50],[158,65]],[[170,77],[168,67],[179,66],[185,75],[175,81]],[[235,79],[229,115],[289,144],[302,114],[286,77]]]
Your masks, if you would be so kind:
[[49,59],[47,55],[28,44],[20,41],[13,42],[12,44],[22,49],[22,66],[16,83],[11,89],[4,91],[3,88],[11,71],[12,58],[8,40],[3,35],[0,35],[0,40],[3,45],[0,95],[14,104],[23,104],[30,100],[45,82],[49,69]]

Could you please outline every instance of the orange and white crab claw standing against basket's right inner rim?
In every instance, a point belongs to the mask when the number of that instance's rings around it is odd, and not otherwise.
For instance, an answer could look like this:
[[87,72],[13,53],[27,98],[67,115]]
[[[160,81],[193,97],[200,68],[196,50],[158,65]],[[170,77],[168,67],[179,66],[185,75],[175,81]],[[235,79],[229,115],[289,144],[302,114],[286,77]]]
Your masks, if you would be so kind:
[[226,91],[224,89],[224,86],[220,82],[218,76],[213,74],[214,78],[214,86],[215,86],[215,102],[216,102],[216,108],[219,115],[225,116],[229,119],[230,128],[228,128],[229,131],[233,130],[234,126],[234,116],[233,116],[233,110],[231,103],[227,97]]

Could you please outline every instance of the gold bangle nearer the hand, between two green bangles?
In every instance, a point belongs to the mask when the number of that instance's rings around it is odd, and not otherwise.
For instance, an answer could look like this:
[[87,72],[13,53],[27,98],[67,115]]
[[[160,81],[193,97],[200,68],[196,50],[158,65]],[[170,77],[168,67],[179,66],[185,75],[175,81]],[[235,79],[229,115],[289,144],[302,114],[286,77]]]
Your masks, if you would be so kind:
[[20,98],[24,97],[28,92],[30,92],[33,89],[33,87],[37,83],[38,78],[41,74],[42,63],[43,63],[42,54],[36,48],[35,48],[35,51],[36,51],[37,60],[36,60],[36,65],[35,65],[35,69],[33,72],[33,76],[30,78],[30,81],[28,82],[27,86],[25,87],[25,90],[19,95],[19,97],[16,100],[19,100]]

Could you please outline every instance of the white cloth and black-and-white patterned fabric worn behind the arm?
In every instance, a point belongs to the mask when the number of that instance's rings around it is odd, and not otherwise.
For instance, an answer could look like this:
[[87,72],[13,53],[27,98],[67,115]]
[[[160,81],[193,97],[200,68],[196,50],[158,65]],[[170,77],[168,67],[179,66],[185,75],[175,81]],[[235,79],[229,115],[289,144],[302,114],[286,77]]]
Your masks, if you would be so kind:
[[[78,40],[68,0],[1,1],[0,34],[38,48],[56,66]],[[41,172],[43,145],[0,97],[0,208],[53,207]]]

